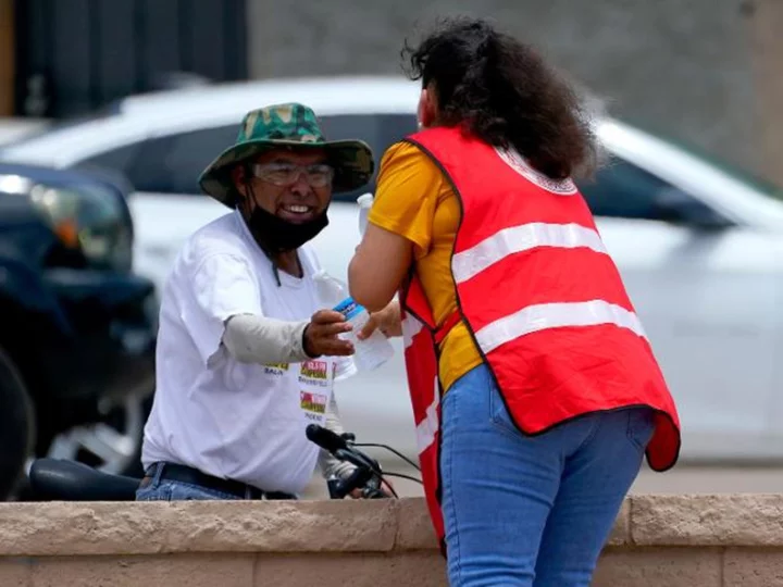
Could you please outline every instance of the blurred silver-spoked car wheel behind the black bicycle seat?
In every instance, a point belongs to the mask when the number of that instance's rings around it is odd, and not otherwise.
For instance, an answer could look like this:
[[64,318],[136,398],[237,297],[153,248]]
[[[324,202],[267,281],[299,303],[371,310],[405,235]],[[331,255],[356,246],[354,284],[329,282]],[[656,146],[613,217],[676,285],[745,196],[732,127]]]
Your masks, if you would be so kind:
[[130,395],[103,407],[102,422],[76,426],[57,435],[47,452],[116,475],[140,477],[141,440],[151,394]]

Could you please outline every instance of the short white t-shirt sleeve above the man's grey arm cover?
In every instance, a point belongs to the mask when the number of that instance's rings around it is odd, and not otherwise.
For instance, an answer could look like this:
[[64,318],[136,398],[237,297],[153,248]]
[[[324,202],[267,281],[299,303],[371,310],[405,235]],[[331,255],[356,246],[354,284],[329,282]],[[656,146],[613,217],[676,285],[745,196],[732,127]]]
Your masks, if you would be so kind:
[[181,317],[207,365],[220,350],[226,321],[236,314],[263,315],[259,285],[248,262],[217,253],[192,271]]

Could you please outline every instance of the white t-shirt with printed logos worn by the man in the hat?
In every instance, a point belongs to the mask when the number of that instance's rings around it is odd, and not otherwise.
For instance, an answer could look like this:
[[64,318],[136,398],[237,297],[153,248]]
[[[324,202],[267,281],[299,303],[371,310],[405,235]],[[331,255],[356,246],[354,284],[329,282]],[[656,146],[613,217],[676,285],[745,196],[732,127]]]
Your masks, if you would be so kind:
[[319,303],[314,251],[299,249],[303,277],[279,272],[238,212],[195,233],[177,257],[161,299],[157,389],[141,462],[167,461],[268,491],[299,492],[319,448],[304,428],[324,425],[335,377],[350,358],[260,365],[234,360],[221,345],[225,321],[256,314],[302,321]]

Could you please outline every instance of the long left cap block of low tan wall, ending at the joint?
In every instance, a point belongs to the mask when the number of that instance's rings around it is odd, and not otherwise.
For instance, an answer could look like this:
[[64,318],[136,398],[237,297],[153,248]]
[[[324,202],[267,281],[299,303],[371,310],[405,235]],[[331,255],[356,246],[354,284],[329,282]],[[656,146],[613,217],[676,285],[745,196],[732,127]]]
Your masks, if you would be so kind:
[[390,551],[384,501],[0,503],[0,557]]

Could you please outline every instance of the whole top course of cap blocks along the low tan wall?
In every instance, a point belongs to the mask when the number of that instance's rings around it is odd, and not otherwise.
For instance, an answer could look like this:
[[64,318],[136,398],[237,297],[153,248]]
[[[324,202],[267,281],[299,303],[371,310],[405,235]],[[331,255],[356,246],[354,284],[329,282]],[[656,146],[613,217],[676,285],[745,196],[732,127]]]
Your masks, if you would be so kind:
[[[0,557],[437,548],[422,498],[0,503]],[[608,546],[783,547],[783,495],[631,496]]]

